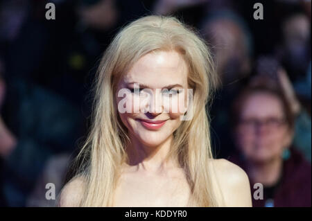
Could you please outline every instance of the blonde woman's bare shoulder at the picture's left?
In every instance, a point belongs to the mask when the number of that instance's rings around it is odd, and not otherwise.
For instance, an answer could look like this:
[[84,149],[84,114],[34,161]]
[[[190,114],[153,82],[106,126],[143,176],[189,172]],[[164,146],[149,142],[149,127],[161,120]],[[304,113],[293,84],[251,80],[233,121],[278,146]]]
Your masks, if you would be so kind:
[[58,206],[75,207],[79,206],[83,198],[85,179],[74,177],[63,188],[58,198]]

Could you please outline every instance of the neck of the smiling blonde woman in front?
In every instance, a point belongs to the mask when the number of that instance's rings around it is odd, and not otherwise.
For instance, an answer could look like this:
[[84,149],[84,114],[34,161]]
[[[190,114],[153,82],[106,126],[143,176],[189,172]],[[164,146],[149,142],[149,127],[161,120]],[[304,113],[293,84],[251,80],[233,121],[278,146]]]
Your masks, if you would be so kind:
[[161,173],[169,168],[179,167],[177,161],[165,161],[171,149],[173,136],[169,136],[166,141],[157,146],[144,145],[135,136],[130,136],[130,141],[126,148],[129,166],[136,166],[137,170],[148,173]]

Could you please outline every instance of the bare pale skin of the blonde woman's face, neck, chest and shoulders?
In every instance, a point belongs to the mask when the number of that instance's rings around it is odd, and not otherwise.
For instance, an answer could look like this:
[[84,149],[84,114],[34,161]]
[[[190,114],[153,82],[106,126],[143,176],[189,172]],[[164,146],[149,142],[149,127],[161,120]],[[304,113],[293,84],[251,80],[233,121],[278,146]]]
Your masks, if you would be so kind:
[[[132,87],[130,82],[147,85],[153,93],[156,89],[168,88],[168,85],[174,85],[168,89],[187,89],[187,65],[175,51],[148,53],[125,74],[119,88]],[[173,94],[170,96],[175,99]],[[119,99],[116,97],[116,102]],[[155,99],[152,101],[155,104]],[[182,123],[179,118],[182,110],[164,113],[162,105],[155,107],[152,104],[146,107],[147,113],[120,114],[131,139],[126,147],[130,160],[123,165],[114,193],[114,206],[189,206],[190,188],[184,170],[176,159],[164,161],[171,147],[173,132]],[[157,130],[148,130],[138,118],[166,123]],[[216,193],[218,201],[224,199],[221,206],[251,206],[250,184],[245,172],[225,159],[210,163],[216,170],[216,175],[212,175],[214,186],[223,193]],[[60,196],[60,206],[78,206],[82,189],[82,179],[69,182]]]

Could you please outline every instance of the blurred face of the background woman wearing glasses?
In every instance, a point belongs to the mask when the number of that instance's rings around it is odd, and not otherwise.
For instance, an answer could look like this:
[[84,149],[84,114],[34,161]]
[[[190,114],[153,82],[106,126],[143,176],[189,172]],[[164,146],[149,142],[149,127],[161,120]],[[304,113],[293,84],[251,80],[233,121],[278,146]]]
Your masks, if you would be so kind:
[[265,162],[281,154],[291,142],[291,130],[277,96],[258,92],[245,100],[236,141],[246,159]]

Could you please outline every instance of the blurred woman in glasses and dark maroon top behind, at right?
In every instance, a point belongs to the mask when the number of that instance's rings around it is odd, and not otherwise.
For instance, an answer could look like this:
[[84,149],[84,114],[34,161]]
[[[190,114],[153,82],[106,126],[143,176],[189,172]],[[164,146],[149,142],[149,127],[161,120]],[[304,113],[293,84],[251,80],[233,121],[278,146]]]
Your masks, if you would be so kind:
[[311,163],[294,147],[297,107],[277,86],[281,76],[254,77],[234,100],[237,152],[229,160],[248,174],[252,193],[263,185],[263,200],[253,197],[253,206],[311,206]]

